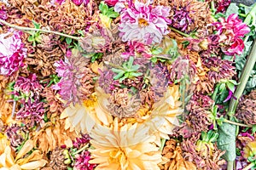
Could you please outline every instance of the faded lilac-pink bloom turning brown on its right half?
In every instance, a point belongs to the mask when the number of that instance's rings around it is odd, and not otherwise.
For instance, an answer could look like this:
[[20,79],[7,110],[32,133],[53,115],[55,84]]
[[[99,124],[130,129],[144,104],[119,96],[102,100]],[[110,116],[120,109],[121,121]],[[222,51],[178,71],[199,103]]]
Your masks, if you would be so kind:
[[[75,54],[70,58],[62,59],[55,63],[56,72],[61,81],[52,86],[59,90],[61,98],[67,101],[67,105],[73,102],[78,103],[80,99],[87,99],[93,93],[92,75],[94,73],[87,68],[88,59],[80,54]],[[86,87],[83,86],[86,84]]]

